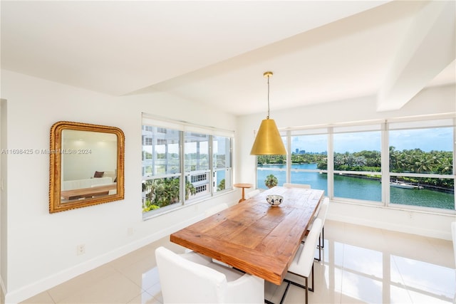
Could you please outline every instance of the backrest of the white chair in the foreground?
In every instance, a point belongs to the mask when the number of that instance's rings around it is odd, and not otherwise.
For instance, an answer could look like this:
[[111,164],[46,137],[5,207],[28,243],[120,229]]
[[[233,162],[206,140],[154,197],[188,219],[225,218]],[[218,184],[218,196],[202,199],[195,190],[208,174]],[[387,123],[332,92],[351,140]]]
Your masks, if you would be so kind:
[[227,277],[165,247],[155,250],[164,303],[222,303]]

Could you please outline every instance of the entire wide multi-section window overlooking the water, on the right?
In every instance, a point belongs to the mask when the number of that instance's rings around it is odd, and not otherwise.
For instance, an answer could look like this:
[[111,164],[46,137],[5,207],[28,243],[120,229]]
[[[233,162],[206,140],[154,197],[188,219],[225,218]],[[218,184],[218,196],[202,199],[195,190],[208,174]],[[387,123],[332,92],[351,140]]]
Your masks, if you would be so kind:
[[274,174],[331,199],[455,211],[455,118],[282,130],[288,156],[257,157],[257,187]]

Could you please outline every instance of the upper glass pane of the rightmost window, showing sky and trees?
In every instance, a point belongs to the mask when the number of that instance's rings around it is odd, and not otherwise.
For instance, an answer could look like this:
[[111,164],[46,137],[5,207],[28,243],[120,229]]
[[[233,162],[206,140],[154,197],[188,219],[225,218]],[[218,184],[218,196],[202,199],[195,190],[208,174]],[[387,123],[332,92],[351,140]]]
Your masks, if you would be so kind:
[[453,128],[390,131],[390,172],[452,174]]

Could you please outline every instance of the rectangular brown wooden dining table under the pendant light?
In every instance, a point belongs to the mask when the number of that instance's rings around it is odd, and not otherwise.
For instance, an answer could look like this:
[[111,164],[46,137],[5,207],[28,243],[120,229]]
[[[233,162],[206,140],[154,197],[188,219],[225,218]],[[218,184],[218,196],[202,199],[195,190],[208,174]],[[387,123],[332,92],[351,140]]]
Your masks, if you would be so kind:
[[[279,194],[279,206],[266,195]],[[187,226],[170,241],[280,285],[323,199],[323,190],[273,187]]]

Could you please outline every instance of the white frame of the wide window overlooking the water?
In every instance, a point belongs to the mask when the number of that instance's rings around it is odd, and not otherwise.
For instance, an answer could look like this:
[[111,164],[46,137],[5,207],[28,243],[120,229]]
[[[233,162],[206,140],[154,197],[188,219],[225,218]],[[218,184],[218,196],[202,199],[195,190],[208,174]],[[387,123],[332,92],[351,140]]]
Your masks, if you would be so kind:
[[[393,128],[390,125],[393,124]],[[390,202],[390,177],[394,176],[405,176],[405,173],[390,172],[390,154],[389,154],[389,132],[394,130],[395,125],[409,126],[405,127],[405,130],[412,129],[425,129],[432,127],[452,127],[453,131],[453,146],[452,146],[452,174],[425,174],[425,173],[408,173],[410,177],[430,177],[440,179],[453,179],[455,186],[453,194],[455,195],[455,208],[454,209],[443,209],[437,207],[428,206],[413,206],[408,204],[398,204]],[[334,157],[334,133],[338,132],[349,132],[349,130],[358,130],[359,132],[369,132],[372,130],[380,131],[380,172],[374,172],[380,175],[381,186],[381,201],[366,201],[358,199],[346,199],[343,197],[334,196],[334,174],[346,173],[345,171],[335,171],[333,164]],[[398,117],[388,120],[366,120],[362,122],[345,122],[345,123],[332,123],[331,125],[314,125],[304,127],[291,127],[279,129],[281,134],[286,134],[287,155],[286,155],[286,182],[291,180],[291,138],[295,135],[328,135],[328,167],[327,170],[310,170],[301,169],[302,172],[324,172],[328,174],[327,189],[328,196],[333,201],[341,201],[346,203],[354,204],[366,204],[369,206],[384,206],[391,209],[407,209],[407,210],[418,210],[429,213],[437,214],[456,214],[456,117],[454,113],[448,113],[443,115],[425,115],[419,117]],[[274,170],[274,168],[271,168]],[[258,159],[256,157],[255,162],[255,174],[258,173]],[[373,172],[349,172],[353,174],[372,174]],[[256,177],[258,187],[258,177]],[[280,185],[280,184],[279,184]]]

